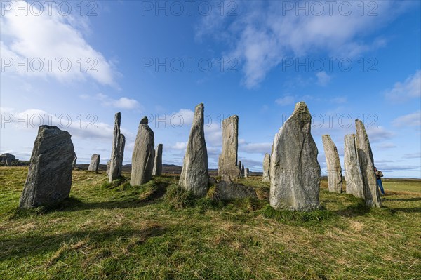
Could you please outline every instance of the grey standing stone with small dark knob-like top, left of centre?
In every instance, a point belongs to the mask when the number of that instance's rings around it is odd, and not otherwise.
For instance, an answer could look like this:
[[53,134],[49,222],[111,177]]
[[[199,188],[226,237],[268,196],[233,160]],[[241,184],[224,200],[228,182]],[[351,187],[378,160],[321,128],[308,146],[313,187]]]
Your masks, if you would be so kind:
[[136,135],[135,147],[133,148],[132,170],[130,185],[142,185],[152,179],[155,160],[154,131],[149,128],[145,116],[139,124]]

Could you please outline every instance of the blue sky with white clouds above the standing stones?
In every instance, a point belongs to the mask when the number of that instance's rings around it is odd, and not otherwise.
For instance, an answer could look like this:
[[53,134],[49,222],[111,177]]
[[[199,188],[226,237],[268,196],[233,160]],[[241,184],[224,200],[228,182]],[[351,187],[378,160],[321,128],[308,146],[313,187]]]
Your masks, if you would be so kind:
[[143,116],[163,164],[182,166],[205,106],[209,168],[222,119],[239,116],[239,160],[262,171],[296,102],[338,147],[355,119],[375,166],[421,178],[420,1],[1,1],[0,153],[29,160],[40,124],[72,135],[78,164],[106,164],[114,114],[124,164]]

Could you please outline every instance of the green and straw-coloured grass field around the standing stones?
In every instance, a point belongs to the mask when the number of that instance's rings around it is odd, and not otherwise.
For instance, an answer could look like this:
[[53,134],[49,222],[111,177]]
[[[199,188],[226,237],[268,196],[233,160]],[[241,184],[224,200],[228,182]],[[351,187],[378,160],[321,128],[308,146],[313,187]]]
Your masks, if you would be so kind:
[[74,171],[70,199],[22,211],[26,175],[0,168],[0,279],[421,278],[420,180],[385,181],[380,209],[323,181],[323,209],[298,213],[194,199],[173,176],[110,185]]

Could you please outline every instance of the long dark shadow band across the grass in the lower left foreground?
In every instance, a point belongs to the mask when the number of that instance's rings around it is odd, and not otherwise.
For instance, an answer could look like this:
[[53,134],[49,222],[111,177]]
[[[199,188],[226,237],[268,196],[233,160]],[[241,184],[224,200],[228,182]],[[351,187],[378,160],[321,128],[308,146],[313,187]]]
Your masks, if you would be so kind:
[[88,240],[89,244],[102,244],[116,239],[131,238],[136,239],[138,243],[143,243],[152,236],[163,235],[165,231],[165,227],[161,225],[151,225],[140,230],[103,229],[50,235],[27,234],[18,238],[2,240],[0,242],[0,261],[55,252],[65,244],[78,243],[83,239]]

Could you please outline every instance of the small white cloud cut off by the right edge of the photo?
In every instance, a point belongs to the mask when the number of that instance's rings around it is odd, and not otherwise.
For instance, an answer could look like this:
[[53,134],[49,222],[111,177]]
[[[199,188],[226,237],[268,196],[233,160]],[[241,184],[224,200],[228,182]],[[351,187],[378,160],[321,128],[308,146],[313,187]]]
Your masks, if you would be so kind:
[[392,89],[385,92],[387,98],[399,101],[421,97],[421,71],[408,76],[403,83],[397,82]]

